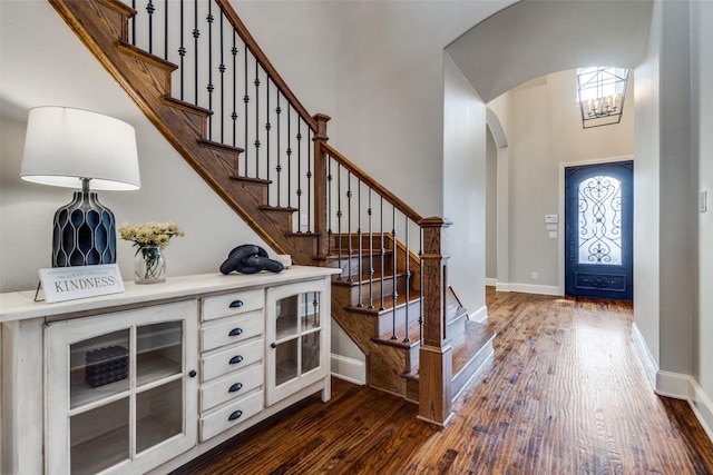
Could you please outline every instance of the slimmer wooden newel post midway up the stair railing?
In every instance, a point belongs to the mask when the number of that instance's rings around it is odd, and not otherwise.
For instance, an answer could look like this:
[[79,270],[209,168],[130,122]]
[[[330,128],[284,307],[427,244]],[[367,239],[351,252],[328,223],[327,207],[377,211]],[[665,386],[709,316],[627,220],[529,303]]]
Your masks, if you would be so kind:
[[318,256],[326,256],[329,249],[329,217],[326,216],[326,154],[322,145],[329,140],[326,136],[326,122],[330,117],[323,113],[314,116],[318,130],[314,133],[314,232],[320,235],[316,244]]

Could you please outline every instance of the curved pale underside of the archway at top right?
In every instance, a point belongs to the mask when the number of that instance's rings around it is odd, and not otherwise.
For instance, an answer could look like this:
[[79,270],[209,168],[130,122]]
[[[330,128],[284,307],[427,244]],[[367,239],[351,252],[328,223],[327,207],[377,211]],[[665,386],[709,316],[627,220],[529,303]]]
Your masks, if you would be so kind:
[[481,21],[447,52],[489,102],[530,79],[589,66],[635,68],[652,0],[522,0]]

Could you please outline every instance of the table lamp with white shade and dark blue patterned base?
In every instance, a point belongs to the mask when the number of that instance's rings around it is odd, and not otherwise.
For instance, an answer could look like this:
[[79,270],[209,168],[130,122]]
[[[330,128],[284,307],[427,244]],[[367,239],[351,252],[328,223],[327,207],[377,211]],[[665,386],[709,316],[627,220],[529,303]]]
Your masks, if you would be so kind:
[[140,188],[136,133],[128,123],[87,110],[30,110],[20,178],[80,188],[55,214],[52,267],[116,263],[114,214],[89,190]]

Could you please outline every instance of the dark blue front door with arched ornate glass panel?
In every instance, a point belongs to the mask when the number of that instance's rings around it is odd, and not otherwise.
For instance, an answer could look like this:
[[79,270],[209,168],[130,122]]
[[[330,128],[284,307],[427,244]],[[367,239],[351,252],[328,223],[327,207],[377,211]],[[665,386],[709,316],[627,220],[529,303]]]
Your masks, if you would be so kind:
[[633,297],[633,161],[565,168],[565,294]]

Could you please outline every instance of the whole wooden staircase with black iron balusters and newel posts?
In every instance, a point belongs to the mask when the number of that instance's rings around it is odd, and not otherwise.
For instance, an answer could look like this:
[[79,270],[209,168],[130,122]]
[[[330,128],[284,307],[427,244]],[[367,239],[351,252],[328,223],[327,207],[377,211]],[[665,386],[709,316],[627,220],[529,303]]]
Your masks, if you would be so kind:
[[[266,244],[292,255],[295,264],[342,269],[332,285],[332,316],[367,355],[368,384],[418,403],[420,418],[445,425],[452,398],[491,359],[495,336],[468,319],[447,285],[441,241],[449,224],[422,218],[328,144],[330,118],[306,112],[227,0],[206,2],[203,29],[213,38],[219,26],[222,49],[208,41],[201,60],[207,56],[208,65],[219,62],[209,69],[219,70],[219,80],[209,72],[207,99],[195,86],[193,101],[184,100],[187,67],[167,59],[167,46],[164,58],[152,52],[154,2],[148,0],[146,8],[148,47],[140,48],[135,44],[137,11],[121,1],[49,1],[154,126]],[[196,46],[197,85],[201,30],[194,4],[193,34],[185,43],[182,36],[177,50],[183,65],[186,44]],[[182,23],[183,18],[182,9]],[[235,29],[225,37],[232,38],[232,48],[223,47],[225,24]],[[235,91],[238,46],[245,50],[242,98]],[[214,83],[224,81],[231,59],[233,92],[221,89],[218,100]],[[253,65],[255,79],[248,83]],[[263,88],[265,82],[271,89]],[[244,103],[241,115],[238,102]],[[244,137],[236,133],[238,116],[256,120],[255,126],[244,122]],[[264,123],[263,131],[257,123]],[[226,139],[231,127],[232,140]],[[271,152],[271,140],[286,156]],[[418,245],[410,236],[418,237]]]

